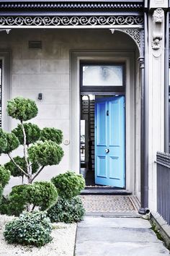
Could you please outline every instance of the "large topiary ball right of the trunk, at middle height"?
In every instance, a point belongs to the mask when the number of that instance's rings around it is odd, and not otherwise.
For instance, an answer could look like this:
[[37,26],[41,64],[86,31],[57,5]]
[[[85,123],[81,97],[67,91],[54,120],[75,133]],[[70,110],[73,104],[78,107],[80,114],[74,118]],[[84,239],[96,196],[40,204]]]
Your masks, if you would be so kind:
[[28,148],[30,161],[37,162],[40,166],[53,166],[60,163],[63,149],[56,142],[37,142]]

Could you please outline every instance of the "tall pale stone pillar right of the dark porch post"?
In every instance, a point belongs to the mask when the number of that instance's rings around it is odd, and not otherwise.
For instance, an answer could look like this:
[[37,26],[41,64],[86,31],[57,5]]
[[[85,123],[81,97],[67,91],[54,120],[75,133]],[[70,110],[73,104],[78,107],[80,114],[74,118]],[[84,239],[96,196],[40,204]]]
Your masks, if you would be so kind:
[[156,210],[156,152],[164,152],[165,14],[160,4],[164,7],[165,1],[151,1],[148,17],[148,208],[151,210]]

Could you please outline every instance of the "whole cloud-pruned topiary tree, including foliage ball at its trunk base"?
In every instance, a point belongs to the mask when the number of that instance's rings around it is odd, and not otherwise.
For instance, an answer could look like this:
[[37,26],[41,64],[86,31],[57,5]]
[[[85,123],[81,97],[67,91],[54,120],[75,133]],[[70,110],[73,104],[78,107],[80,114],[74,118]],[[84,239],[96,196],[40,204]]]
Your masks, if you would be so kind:
[[[45,210],[56,201],[57,190],[50,182],[32,182],[45,166],[60,163],[63,158],[63,149],[60,145],[63,133],[55,128],[41,130],[36,124],[27,122],[37,116],[38,112],[35,101],[30,99],[17,97],[8,101],[7,112],[12,118],[19,120],[20,124],[11,133],[0,129],[0,154],[5,153],[10,158],[4,168],[8,169],[12,176],[22,176],[27,181],[27,186],[14,187],[9,194],[9,212],[14,212],[14,205],[18,209],[15,215],[25,208],[32,210],[35,206]],[[12,157],[12,151],[19,145],[22,145],[23,156]],[[30,207],[31,205],[33,207]]]

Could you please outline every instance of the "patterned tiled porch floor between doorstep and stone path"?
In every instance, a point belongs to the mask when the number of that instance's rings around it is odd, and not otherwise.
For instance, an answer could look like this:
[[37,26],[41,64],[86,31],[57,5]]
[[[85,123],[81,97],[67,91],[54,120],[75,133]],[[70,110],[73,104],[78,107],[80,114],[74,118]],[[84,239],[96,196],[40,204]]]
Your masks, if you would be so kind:
[[135,213],[139,204],[135,196],[81,195],[86,213]]

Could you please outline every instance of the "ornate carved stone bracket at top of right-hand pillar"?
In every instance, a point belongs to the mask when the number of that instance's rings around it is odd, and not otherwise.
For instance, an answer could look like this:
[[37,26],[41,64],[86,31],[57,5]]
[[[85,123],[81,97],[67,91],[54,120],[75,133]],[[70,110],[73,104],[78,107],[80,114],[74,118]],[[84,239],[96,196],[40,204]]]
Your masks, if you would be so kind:
[[153,41],[152,48],[153,50],[158,50],[161,48],[162,33],[164,22],[164,10],[161,8],[156,9],[153,12]]

